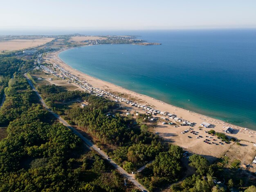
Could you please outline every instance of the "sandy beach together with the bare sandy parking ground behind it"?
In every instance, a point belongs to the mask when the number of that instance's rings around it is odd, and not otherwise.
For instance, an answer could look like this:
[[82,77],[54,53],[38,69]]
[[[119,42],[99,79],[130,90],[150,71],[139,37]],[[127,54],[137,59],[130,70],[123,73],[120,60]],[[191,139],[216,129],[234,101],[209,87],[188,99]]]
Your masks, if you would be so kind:
[[[61,50],[63,51],[63,50]],[[193,138],[188,138],[188,135],[191,133],[181,134],[182,131],[189,128],[189,126],[180,126],[180,127],[173,127],[171,125],[163,125],[162,121],[159,121],[157,126],[155,127],[155,132],[159,132],[159,135],[165,138],[167,141],[171,141],[184,149],[188,150],[189,152],[202,154],[204,156],[208,156],[210,160],[218,158],[231,150],[231,148],[236,148],[233,151],[238,152],[241,162],[251,163],[255,156],[255,149],[254,143],[256,143],[256,131],[247,129],[245,127],[239,127],[236,125],[230,125],[224,121],[220,121],[215,118],[211,118],[208,116],[204,116],[202,114],[198,114],[195,112],[188,111],[186,109],[182,109],[180,107],[176,107],[170,105],[168,103],[164,103],[161,100],[157,100],[155,98],[151,98],[146,95],[137,94],[130,90],[124,89],[123,87],[113,85],[112,83],[108,83],[106,81],[94,78],[87,74],[84,74],[76,69],[73,69],[66,63],[64,63],[59,57],[58,54],[61,52],[49,53],[45,57],[47,63],[57,64],[71,74],[81,78],[81,80],[85,80],[90,83],[93,87],[97,87],[99,89],[106,90],[113,94],[122,93],[124,98],[132,98],[139,104],[147,105],[157,110],[169,112],[172,114],[176,114],[177,117],[183,118],[187,121],[195,123],[193,127],[195,131],[198,131],[199,135],[203,136],[204,138],[196,138],[196,136],[192,135]],[[81,88],[82,89],[82,88]],[[130,99],[131,100],[131,99]],[[132,110],[136,110],[137,112],[145,113],[142,109],[138,109],[137,107],[130,107]],[[157,115],[159,117],[159,114]],[[199,131],[198,127],[202,122],[210,123],[212,126],[209,128],[203,128]],[[232,127],[235,129],[234,134],[226,134],[227,136],[237,138],[241,140],[243,145],[234,145],[235,143],[225,144],[225,145],[207,145],[203,142],[205,137],[208,135],[205,131],[209,131],[210,129],[214,129],[216,132],[222,132],[224,127]],[[215,136],[216,137],[216,136]],[[217,138],[216,138],[217,139]],[[219,143],[219,141],[216,143]],[[232,154],[231,154],[232,155]]]

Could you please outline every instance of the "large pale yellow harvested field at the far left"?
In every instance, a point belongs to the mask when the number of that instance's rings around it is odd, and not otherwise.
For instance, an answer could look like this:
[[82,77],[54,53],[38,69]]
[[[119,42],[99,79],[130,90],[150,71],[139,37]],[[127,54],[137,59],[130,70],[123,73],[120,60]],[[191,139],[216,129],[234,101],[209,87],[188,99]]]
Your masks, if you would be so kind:
[[54,38],[15,39],[9,41],[0,41],[0,52],[27,49],[29,47],[37,47],[39,45],[44,45],[45,43],[52,40],[54,40]]

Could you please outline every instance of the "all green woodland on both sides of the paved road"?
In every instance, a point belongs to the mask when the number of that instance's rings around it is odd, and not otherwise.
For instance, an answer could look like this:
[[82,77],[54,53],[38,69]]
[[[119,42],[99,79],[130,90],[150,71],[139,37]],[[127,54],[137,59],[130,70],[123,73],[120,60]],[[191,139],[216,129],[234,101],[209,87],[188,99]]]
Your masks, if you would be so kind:
[[[0,57],[1,100],[6,96],[0,129],[7,132],[0,141],[0,191],[138,191],[128,180],[124,185],[124,177],[106,159],[43,108],[24,77],[33,65],[32,60]],[[150,192],[256,191],[255,183],[237,174],[240,161],[227,168],[226,157],[212,164],[198,154],[187,160],[181,147],[148,131],[146,114],[124,116],[115,112],[119,106],[114,101],[64,86],[35,87],[48,107],[86,133],[126,172],[146,165],[135,178]],[[228,141],[225,134],[214,134]]]

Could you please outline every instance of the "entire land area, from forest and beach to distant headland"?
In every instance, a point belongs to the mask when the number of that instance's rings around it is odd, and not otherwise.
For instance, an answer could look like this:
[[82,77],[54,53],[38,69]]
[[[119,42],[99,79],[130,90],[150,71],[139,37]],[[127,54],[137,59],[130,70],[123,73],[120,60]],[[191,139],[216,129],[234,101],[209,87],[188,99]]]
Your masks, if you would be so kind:
[[106,44],[161,46],[137,36],[0,36],[0,191],[254,191],[256,131],[58,56]]

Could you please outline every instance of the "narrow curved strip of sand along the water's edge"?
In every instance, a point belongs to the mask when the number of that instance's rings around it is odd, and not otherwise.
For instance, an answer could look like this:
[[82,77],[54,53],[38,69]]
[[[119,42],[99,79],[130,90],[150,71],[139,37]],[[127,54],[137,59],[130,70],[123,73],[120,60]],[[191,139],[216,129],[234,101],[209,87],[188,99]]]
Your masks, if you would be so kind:
[[[88,45],[85,45],[85,46],[88,46]],[[73,49],[73,48],[75,48],[75,47],[67,48],[67,49]],[[238,137],[238,135],[241,134],[242,138],[239,136],[240,139],[248,140],[247,136],[244,138],[246,133],[248,133],[249,136],[251,135],[251,133],[255,134],[255,136],[256,136],[256,133],[254,133],[255,132],[254,130],[247,129],[245,127],[241,127],[238,125],[232,125],[228,122],[225,122],[225,121],[222,121],[222,120],[219,120],[216,118],[212,118],[212,117],[209,117],[209,116],[206,116],[203,114],[199,114],[197,112],[188,111],[182,107],[177,107],[175,105],[171,105],[169,103],[152,98],[152,97],[144,95],[144,94],[138,94],[129,89],[125,89],[124,87],[121,87],[119,85],[112,84],[110,82],[101,80],[99,78],[95,78],[95,77],[90,76],[84,72],[74,69],[70,65],[67,65],[67,63],[65,63],[63,60],[61,60],[61,58],[59,58],[59,56],[58,56],[58,54],[60,54],[61,52],[65,51],[67,49],[62,49],[60,51],[52,53],[52,56],[55,57],[53,60],[53,63],[57,63],[58,65],[60,65],[61,67],[63,67],[67,71],[69,71],[71,74],[75,73],[74,75],[78,76],[79,78],[83,78],[85,81],[87,81],[94,87],[97,87],[97,88],[100,88],[103,90],[108,90],[109,92],[119,92],[119,93],[129,94],[135,98],[140,98],[141,100],[145,101],[148,105],[154,106],[158,110],[171,112],[171,113],[177,114],[178,117],[182,117],[188,121],[195,122],[197,127],[200,126],[200,123],[202,123],[203,121],[206,121],[206,122],[214,125],[214,127],[215,127],[214,129],[219,132],[222,131],[224,126],[226,126],[226,127],[230,126],[230,127],[233,127],[234,129],[238,129],[239,130],[238,133],[236,135],[233,134],[232,136]],[[125,96],[124,96],[124,98],[125,98]],[[138,103],[140,103],[140,101],[138,101]],[[230,134],[228,134],[228,135],[230,136]],[[249,140],[251,140],[251,138],[252,137],[250,136]],[[253,139],[253,140],[255,140],[255,139]],[[256,140],[253,142],[256,143]]]

